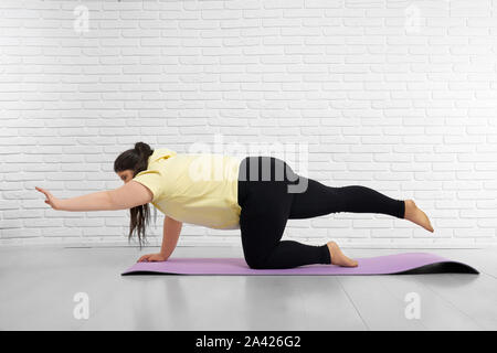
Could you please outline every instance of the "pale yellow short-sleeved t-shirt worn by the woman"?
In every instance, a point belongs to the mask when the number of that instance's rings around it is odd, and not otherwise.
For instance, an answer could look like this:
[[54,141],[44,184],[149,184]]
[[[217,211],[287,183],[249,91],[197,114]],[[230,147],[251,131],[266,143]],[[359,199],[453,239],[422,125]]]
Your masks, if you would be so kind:
[[152,205],[171,218],[216,229],[239,229],[242,159],[211,153],[178,154],[160,148],[133,180],[150,189]]

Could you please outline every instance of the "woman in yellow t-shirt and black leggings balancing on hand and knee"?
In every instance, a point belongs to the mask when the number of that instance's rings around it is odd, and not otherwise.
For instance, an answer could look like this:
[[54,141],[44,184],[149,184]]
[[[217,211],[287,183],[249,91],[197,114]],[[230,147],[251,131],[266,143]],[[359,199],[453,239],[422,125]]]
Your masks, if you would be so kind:
[[294,173],[271,157],[237,160],[221,154],[178,154],[152,150],[137,142],[119,154],[114,171],[125,185],[78,197],[60,200],[36,186],[45,203],[62,211],[130,208],[129,238],[134,231],[141,246],[149,221],[148,203],[166,214],[159,254],[138,261],[166,261],[172,254],[182,223],[216,229],[241,229],[243,254],[251,268],[292,268],[311,264],[356,267],[335,242],[311,246],[281,240],[287,220],[338,212],[381,213],[409,220],[433,232],[426,214],[412,200],[394,200],[372,189],[331,188]]

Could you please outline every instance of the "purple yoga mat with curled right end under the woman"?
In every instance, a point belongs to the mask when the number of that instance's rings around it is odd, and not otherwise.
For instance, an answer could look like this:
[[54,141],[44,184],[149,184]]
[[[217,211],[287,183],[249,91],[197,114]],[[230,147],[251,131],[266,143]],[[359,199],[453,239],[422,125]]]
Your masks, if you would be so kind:
[[121,275],[393,275],[478,274],[473,267],[438,255],[406,253],[358,258],[358,267],[306,265],[287,269],[252,269],[243,258],[170,258],[162,263],[136,263]]

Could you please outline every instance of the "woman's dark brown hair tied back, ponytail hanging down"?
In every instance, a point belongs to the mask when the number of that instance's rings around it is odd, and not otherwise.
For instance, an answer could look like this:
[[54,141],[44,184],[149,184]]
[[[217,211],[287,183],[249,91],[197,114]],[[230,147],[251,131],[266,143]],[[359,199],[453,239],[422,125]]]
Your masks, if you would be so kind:
[[[135,148],[124,151],[114,161],[114,171],[121,172],[125,170],[133,170],[133,178],[139,172],[147,170],[148,158],[154,153],[154,150],[145,142],[136,142]],[[141,246],[146,243],[145,229],[150,223],[149,204],[131,207],[128,242],[131,239],[133,232],[136,231],[138,243]],[[157,218],[157,210],[155,211],[154,222]]]

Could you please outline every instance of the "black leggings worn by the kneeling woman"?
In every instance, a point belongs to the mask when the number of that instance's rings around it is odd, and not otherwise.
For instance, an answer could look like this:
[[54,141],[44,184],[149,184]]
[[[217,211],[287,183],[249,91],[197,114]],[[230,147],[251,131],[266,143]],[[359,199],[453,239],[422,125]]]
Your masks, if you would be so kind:
[[[269,168],[271,165],[271,168]],[[269,173],[271,171],[271,173]],[[338,212],[404,217],[404,202],[361,185],[331,188],[296,174],[273,157],[246,157],[240,164],[240,229],[248,267],[292,268],[331,264],[328,246],[281,240],[287,220]]]

